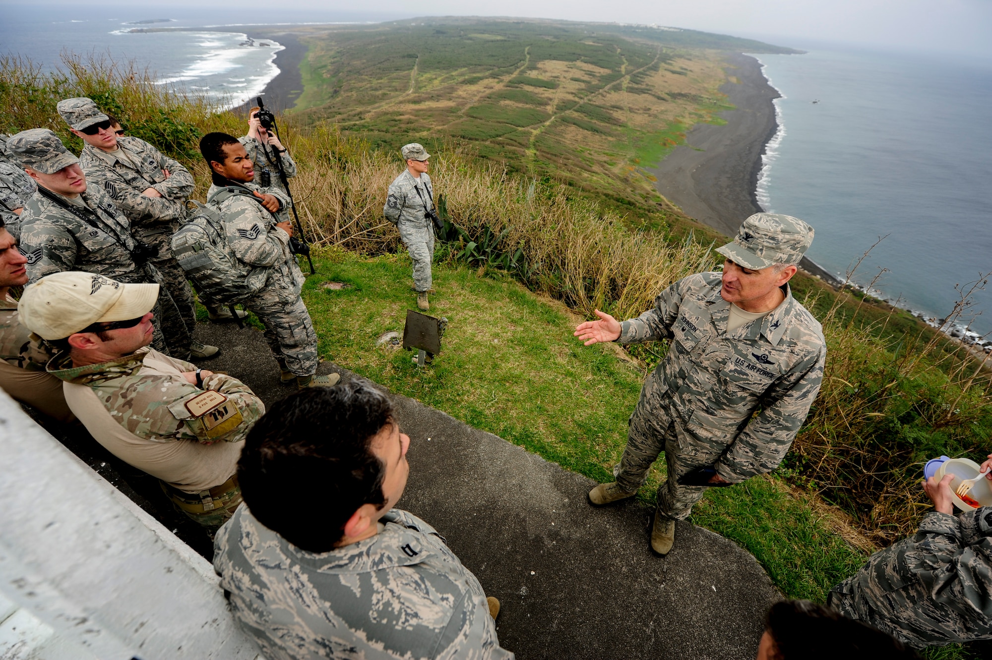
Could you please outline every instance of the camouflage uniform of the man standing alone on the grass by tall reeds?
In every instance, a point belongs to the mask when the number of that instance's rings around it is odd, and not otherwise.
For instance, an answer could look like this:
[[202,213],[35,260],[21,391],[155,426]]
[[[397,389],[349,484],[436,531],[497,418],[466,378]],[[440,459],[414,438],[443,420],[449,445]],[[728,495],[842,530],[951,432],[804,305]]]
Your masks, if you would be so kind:
[[382,212],[400,230],[403,245],[414,262],[414,288],[431,290],[431,262],[434,261],[434,223],[424,216],[434,208],[434,187],[427,172],[418,181],[409,169],[389,184],[389,196]]

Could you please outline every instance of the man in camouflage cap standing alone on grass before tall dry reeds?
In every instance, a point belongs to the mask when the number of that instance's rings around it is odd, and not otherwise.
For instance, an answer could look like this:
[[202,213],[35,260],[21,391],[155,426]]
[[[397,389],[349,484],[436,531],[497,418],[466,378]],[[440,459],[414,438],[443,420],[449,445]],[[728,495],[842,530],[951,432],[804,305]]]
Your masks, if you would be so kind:
[[428,175],[431,165],[424,147],[416,142],[401,150],[407,168],[389,184],[382,212],[400,230],[400,239],[414,262],[414,290],[417,306],[431,308],[431,262],[434,261],[434,187]]

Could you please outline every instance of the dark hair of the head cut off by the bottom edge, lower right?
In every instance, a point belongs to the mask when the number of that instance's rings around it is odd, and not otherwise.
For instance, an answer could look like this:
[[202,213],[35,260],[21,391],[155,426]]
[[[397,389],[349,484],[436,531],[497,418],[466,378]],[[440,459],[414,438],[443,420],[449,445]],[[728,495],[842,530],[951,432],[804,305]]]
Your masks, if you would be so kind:
[[765,629],[775,641],[775,660],[844,658],[844,660],[919,659],[898,639],[839,612],[809,601],[772,605]]

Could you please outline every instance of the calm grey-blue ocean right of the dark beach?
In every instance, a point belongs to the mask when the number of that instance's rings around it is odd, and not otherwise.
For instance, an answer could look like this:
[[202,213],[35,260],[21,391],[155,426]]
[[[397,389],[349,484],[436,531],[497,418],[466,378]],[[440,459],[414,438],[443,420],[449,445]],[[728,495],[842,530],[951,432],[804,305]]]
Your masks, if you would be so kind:
[[[779,132],[758,199],[816,230],[808,256],[840,277],[885,237],[853,279],[927,317],[992,272],[992,62],[814,50],[755,55]],[[971,321],[992,331],[992,290]]]

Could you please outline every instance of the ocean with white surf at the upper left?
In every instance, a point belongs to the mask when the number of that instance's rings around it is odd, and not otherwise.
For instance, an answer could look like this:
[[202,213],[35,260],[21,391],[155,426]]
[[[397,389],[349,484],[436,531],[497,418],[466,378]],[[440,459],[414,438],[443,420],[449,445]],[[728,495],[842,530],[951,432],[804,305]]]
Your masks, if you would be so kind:
[[[372,14],[328,11],[249,13],[244,10],[134,3],[0,4],[0,55],[26,55],[46,69],[62,53],[107,54],[148,67],[163,84],[205,94],[225,107],[256,96],[278,73],[283,46],[251,24],[381,20]],[[212,29],[211,29],[212,28]],[[240,30],[248,30],[255,39]],[[133,32],[156,30],[156,32]],[[166,31],[160,31],[166,30]]]

